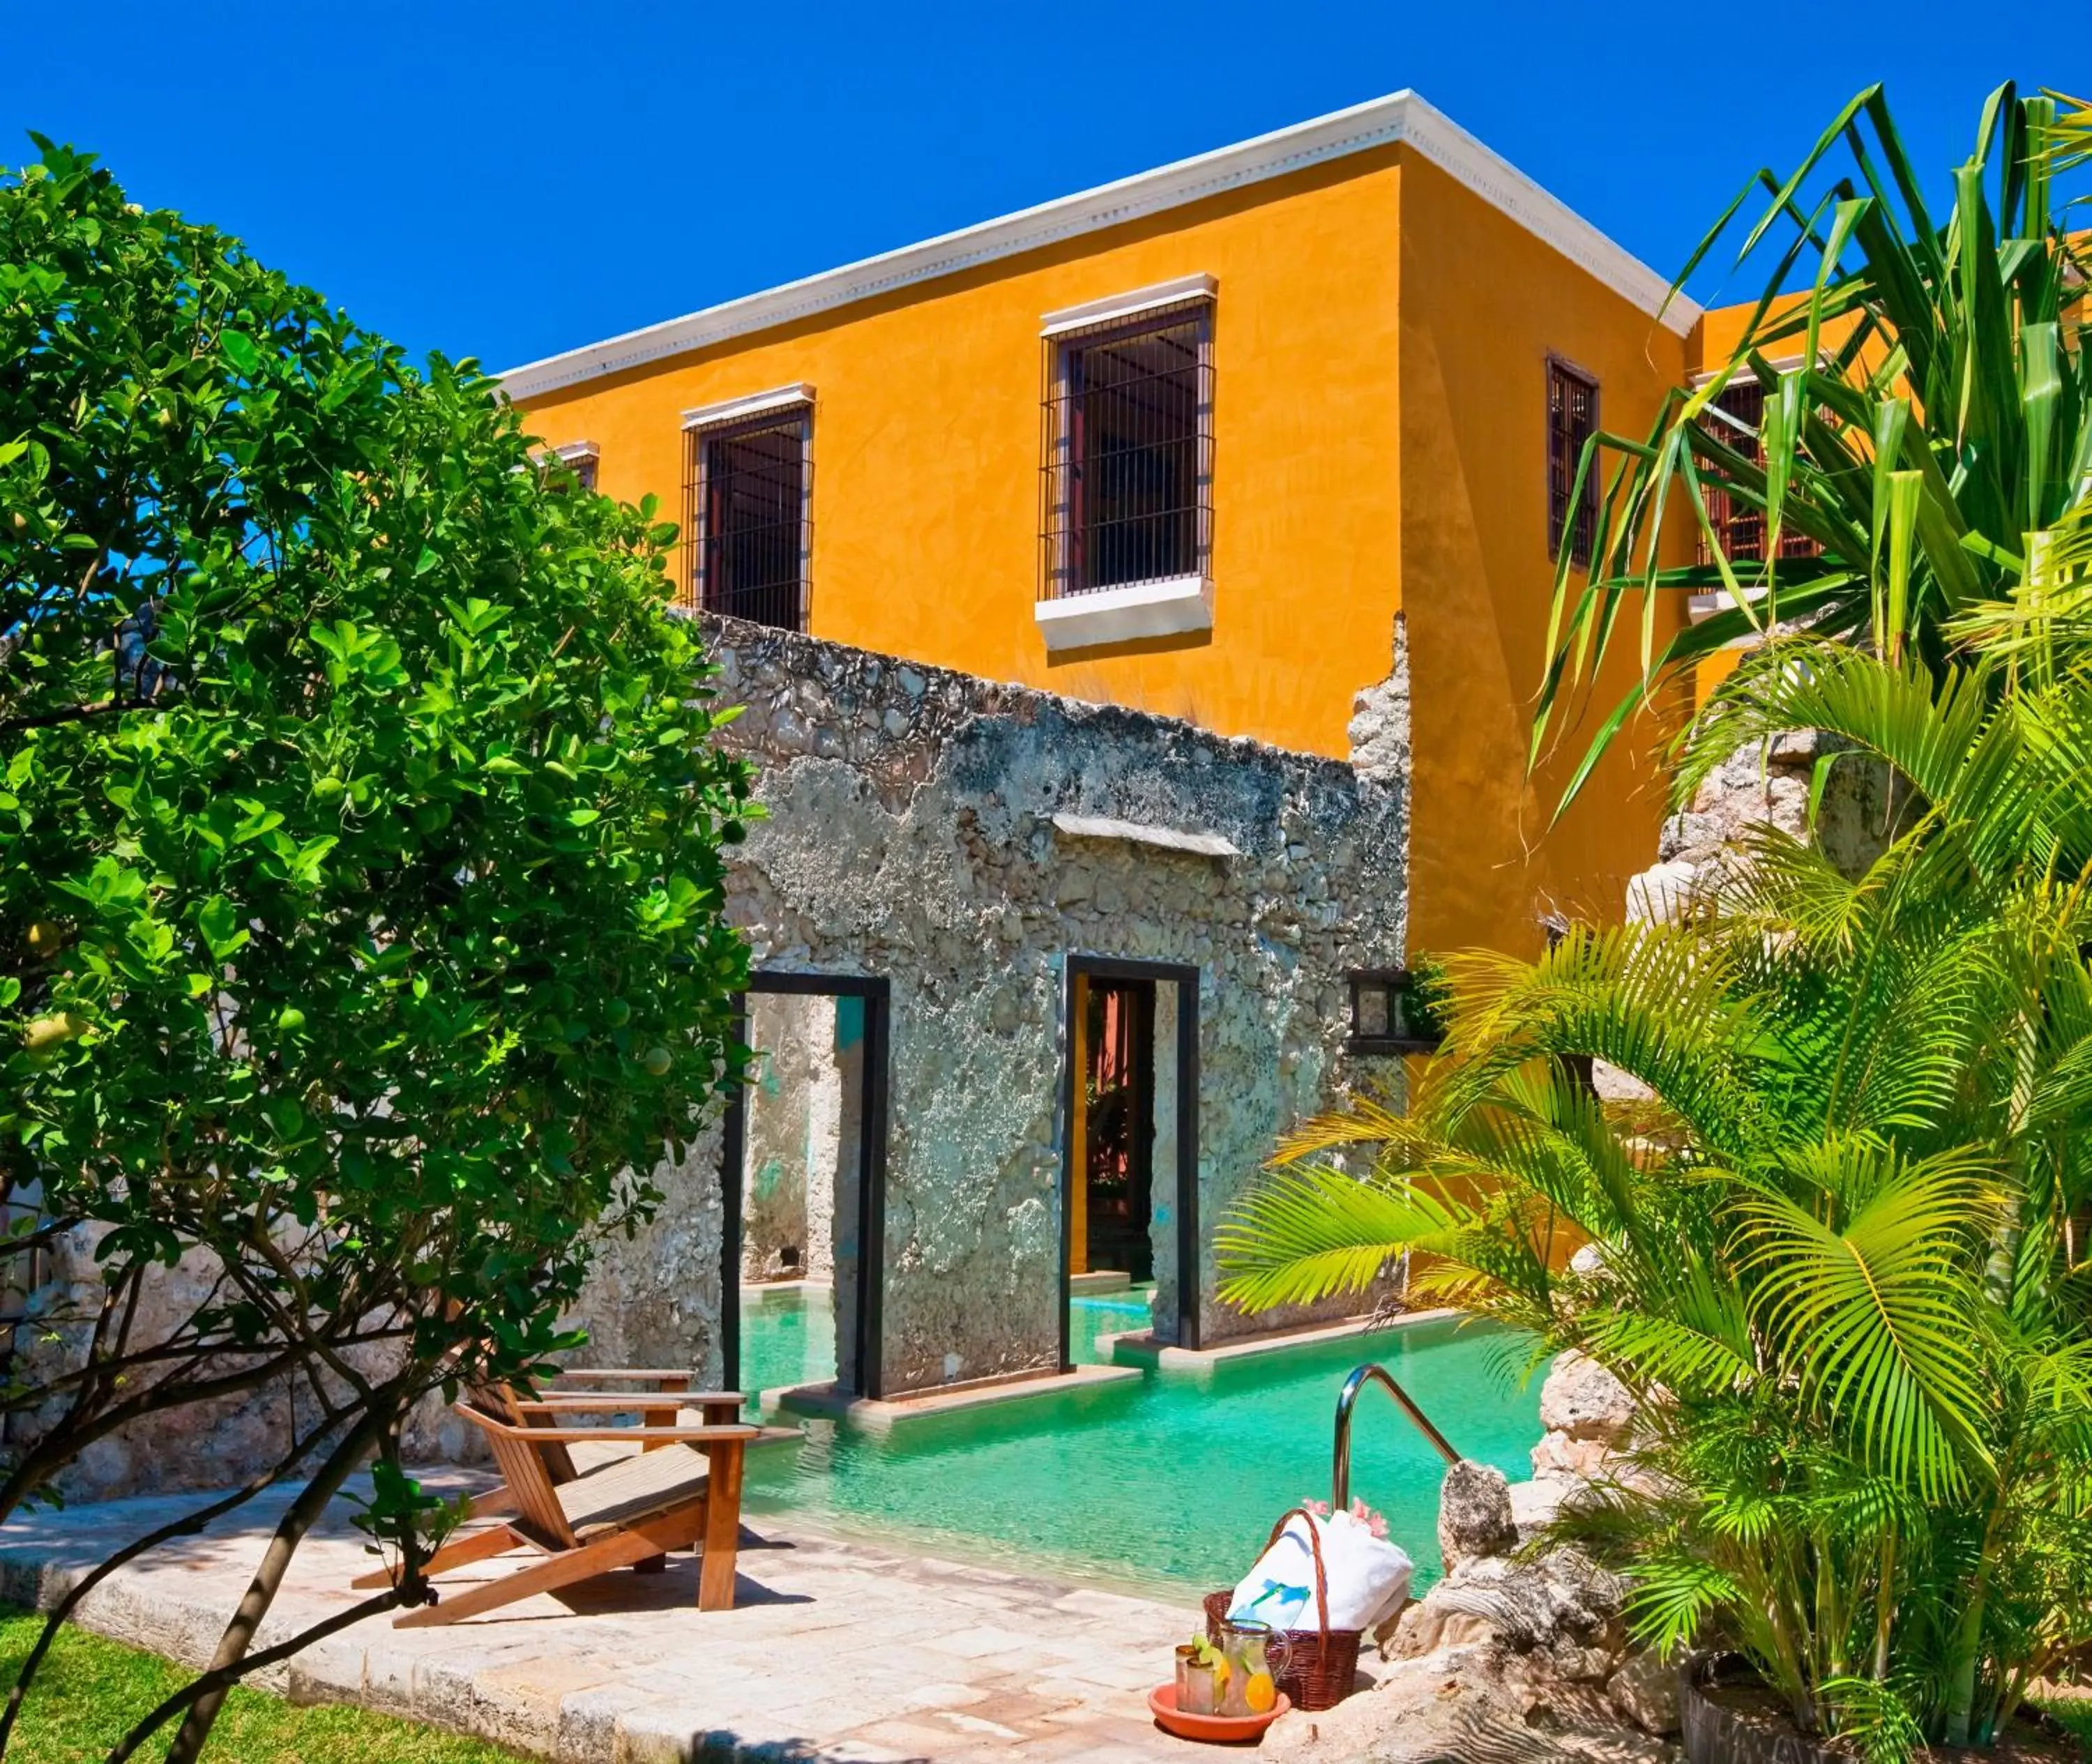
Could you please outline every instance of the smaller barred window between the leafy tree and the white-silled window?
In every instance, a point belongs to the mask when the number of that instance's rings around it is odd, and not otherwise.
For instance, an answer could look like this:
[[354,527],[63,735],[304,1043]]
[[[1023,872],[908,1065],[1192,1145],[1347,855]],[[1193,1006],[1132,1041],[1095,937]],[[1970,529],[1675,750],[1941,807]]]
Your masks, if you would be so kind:
[[805,630],[812,584],[812,412],[768,410],[690,431],[690,601]]

